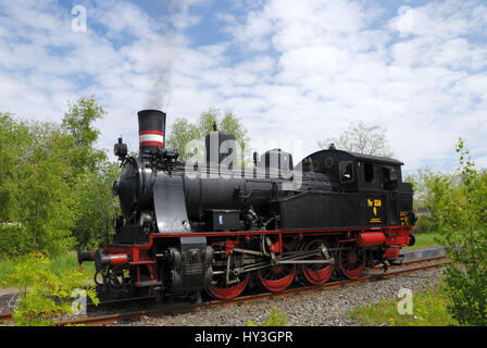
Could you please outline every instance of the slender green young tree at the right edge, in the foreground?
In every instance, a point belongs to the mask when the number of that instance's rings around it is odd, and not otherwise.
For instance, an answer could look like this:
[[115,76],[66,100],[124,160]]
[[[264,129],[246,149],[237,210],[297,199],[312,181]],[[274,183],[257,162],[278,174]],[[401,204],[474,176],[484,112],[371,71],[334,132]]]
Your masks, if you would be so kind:
[[449,310],[461,324],[487,325],[487,176],[475,169],[463,139],[457,152],[459,187],[445,188],[439,213],[447,257],[453,261],[445,271]]

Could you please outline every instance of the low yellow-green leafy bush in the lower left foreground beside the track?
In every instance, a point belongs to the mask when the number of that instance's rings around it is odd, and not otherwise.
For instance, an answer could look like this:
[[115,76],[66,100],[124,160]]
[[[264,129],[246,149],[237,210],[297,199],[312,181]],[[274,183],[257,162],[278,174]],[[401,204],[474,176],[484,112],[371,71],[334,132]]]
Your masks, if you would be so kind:
[[[15,287],[21,291],[17,308],[12,313],[15,325],[54,325],[57,316],[72,312],[73,290],[86,287],[83,272],[74,270],[55,275],[49,270],[50,263],[39,253],[29,253],[15,265],[14,273],[1,282],[3,287]],[[85,291],[98,304],[95,288],[87,287]]]

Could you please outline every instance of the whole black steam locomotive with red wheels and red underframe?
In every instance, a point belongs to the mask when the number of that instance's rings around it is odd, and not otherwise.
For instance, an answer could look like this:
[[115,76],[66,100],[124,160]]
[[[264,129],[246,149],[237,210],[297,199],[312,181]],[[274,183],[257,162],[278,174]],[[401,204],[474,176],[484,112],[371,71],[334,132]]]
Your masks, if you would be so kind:
[[413,191],[400,161],[332,145],[297,165],[272,149],[242,167],[235,136],[214,128],[204,160],[183,162],[164,147],[165,123],[161,111],[140,111],[138,157],[122,138],[114,146],[122,215],[113,241],[78,251],[79,263],[95,261],[104,294],[205,290],[230,299],[257,286],[319,286],[377,264],[387,270],[414,244]]

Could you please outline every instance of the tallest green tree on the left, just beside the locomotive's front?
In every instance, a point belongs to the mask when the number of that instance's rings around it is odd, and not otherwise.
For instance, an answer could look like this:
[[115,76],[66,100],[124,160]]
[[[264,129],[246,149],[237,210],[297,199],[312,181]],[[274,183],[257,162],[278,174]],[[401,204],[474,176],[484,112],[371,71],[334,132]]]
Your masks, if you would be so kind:
[[107,233],[113,232],[112,219],[118,209],[111,189],[118,175],[118,165],[95,147],[100,135],[95,122],[105,114],[93,96],[82,97],[75,103],[68,103],[62,121],[62,127],[74,145],[67,149],[73,169],[72,234],[76,245],[83,248],[96,248],[104,241]]

